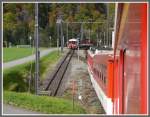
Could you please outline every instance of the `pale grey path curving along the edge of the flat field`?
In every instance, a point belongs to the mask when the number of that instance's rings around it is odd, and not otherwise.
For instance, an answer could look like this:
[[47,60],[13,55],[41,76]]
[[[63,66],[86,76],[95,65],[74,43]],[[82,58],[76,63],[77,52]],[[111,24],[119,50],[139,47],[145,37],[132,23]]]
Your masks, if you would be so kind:
[[[57,50],[57,48],[51,48],[51,49],[42,50],[40,52],[40,57],[43,57],[43,56],[49,54],[50,52],[52,52],[54,50]],[[20,65],[20,64],[24,64],[26,62],[33,61],[34,59],[35,59],[35,54],[31,55],[31,56],[28,56],[28,57],[24,57],[24,58],[18,59],[18,60],[6,62],[6,63],[3,63],[3,69],[11,68],[11,67],[14,67],[14,66]]]

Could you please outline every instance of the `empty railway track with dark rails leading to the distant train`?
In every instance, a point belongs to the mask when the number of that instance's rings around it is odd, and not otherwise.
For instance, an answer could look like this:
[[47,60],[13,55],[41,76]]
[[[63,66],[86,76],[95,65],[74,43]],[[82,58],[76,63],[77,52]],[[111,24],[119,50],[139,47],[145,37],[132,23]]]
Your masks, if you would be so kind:
[[61,81],[65,75],[70,60],[74,54],[74,50],[70,50],[57,65],[56,70],[51,74],[45,91],[49,92],[50,96],[56,96],[60,88]]

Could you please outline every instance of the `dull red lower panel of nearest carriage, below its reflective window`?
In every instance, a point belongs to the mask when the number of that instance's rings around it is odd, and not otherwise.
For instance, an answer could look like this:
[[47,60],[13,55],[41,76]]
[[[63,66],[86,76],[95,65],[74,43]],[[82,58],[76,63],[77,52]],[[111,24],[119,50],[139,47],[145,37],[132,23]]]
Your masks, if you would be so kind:
[[140,48],[130,48],[124,53],[123,113],[140,113]]

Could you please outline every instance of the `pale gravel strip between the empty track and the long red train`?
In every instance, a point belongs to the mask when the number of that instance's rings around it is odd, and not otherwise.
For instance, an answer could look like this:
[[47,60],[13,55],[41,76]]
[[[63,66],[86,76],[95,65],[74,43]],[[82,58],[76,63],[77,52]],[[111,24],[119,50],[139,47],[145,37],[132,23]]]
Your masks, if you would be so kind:
[[75,52],[68,69],[66,79],[61,84],[60,97],[73,99],[72,81],[74,81],[74,100],[83,105],[88,114],[105,114],[88,74],[84,50],[79,51],[79,60],[77,51]]

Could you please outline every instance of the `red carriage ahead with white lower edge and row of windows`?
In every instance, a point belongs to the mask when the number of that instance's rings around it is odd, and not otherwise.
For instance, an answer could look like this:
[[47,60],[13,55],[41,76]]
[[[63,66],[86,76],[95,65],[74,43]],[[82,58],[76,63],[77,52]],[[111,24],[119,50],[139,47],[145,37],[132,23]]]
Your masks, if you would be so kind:
[[[107,114],[112,114],[112,69],[113,51],[103,51],[93,54],[88,50],[88,72],[99,100]],[[109,108],[109,109],[108,109]]]

